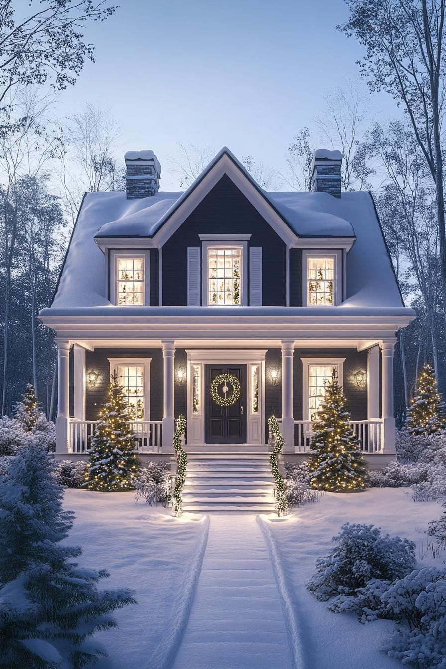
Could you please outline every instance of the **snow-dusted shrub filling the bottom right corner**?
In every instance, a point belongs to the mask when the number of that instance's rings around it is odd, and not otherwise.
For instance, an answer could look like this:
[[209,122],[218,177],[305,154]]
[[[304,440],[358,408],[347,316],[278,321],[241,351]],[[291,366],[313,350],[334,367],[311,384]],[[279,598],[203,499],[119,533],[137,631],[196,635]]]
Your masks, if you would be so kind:
[[400,625],[383,650],[416,669],[446,667],[446,569],[416,569],[381,597]]

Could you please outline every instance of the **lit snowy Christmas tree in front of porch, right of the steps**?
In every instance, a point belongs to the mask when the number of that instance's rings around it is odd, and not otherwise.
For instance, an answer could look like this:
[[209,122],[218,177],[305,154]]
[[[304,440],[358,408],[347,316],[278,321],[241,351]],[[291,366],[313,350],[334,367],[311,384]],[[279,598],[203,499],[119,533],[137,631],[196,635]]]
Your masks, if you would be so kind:
[[314,425],[313,452],[308,460],[312,488],[353,492],[366,487],[367,464],[349,421],[350,411],[333,369]]

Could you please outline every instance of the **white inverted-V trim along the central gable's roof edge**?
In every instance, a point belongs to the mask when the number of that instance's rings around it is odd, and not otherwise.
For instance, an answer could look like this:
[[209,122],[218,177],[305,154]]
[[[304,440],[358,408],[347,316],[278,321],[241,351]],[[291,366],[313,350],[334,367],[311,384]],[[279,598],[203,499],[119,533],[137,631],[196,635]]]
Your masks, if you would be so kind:
[[245,197],[263,216],[265,221],[271,225],[273,230],[279,235],[285,244],[294,244],[297,235],[288,227],[284,219],[275,211],[257,191],[257,188],[249,181],[249,178],[243,173],[243,170],[227,155],[223,153],[209,171],[201,178],[201,181],[185,195],[185,198],[175,211],[168,217],[166,223],[160,227],[153,237],[154,244],[158,247],[163,246],[167,240],[179,229],[181,223],[193,212],[199,203],[213,189],[215,184],[227,175],[231,181],[239,188]]

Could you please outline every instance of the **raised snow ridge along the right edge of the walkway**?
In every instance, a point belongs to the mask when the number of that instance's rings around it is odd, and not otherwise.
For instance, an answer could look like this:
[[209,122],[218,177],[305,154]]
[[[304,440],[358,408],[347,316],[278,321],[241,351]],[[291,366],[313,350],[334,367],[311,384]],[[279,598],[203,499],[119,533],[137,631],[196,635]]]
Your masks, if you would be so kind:
[[267,522],[256,516],[260,529],[265,538],[266,545],[273,567],[275,582],[282,601],[282,610],[284,611],[284,619],[286,624],[286,631],[288,637],[288,648],[294,669],[309,669],[309,664],[304,657],[304,639],[302,638],[302,626],[300,625],[299,616],[296,611],[296,605],[293,604],[288,581],[285,576],[284,565],[280,557],[277,543],[273,537],[271,529]]

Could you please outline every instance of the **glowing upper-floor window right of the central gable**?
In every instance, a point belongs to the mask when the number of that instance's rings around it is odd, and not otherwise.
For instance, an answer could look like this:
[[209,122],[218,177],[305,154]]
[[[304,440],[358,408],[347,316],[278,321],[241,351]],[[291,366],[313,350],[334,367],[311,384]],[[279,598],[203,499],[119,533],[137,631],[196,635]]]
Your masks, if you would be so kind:
[[304,306],[334,306],[342,302],[342,256],[340,251],[303,252]]

